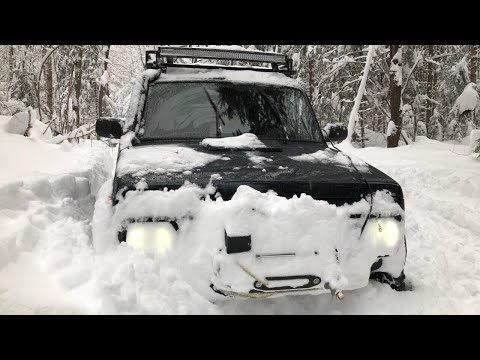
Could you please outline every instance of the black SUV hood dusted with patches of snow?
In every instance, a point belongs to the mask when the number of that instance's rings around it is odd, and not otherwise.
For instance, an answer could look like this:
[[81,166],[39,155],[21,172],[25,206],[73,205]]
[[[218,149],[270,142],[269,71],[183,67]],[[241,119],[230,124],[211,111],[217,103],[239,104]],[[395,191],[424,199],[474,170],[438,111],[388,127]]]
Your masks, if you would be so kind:
[[352,158],[352,165],[344,153],[313,142],[266,145],[276,151],[209,150],[198,141],[131,147],[119,154],[114,194],[140,188],[176,189],[185,181],[203,187],[211,181],[224,200],[238,186],[248,185],[287,198],[305,193],[343,205],[358,201],[370,189],[387,189],[403,208],[400,185],[360,159]]

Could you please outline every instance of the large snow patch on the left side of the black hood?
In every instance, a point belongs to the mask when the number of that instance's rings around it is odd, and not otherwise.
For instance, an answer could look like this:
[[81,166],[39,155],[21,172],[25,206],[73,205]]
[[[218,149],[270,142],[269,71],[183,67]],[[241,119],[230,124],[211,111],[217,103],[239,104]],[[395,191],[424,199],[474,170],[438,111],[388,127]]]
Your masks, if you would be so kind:
[[131,147],[121,152],[117,175],[132,174],[141,177],[152,172],[162,174],[184,172],[221,158],[176,144]]

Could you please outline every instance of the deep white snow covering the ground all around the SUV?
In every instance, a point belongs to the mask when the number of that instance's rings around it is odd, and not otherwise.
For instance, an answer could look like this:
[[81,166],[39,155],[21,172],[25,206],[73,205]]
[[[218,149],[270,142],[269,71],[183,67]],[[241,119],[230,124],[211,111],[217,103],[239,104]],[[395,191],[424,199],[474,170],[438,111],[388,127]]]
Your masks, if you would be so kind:
[[459,146],[419,138],[397,149],[349,150],[403,187],[412,291],[371,282],[345,291],[343,301],[319,295],[212,304],[173,268],[125,244],[94,252],[95,195],[111,176],[112,149],[0,130],[0,313],[478,314],[480,162]]

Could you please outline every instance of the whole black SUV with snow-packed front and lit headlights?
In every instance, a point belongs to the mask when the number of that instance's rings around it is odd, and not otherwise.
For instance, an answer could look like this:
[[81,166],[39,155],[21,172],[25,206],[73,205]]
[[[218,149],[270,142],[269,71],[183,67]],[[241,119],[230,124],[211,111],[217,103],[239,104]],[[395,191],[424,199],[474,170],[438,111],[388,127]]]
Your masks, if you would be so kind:
[[126,118],[96,124],[120,139],[109,241],[155,253],[213,298],[342,298],[370,278],[404,289],[402,189],[327,144],[345,129],[322,133],[291,59],[159,48],[147,64]]

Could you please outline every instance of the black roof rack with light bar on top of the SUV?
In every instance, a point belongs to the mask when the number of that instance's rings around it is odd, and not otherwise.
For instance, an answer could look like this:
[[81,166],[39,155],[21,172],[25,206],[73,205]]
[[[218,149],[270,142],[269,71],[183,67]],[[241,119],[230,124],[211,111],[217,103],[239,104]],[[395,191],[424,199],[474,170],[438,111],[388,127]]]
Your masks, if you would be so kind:
[[[267,67],[247,67],[247,66],[226,66],[219,64],[179,64],[174,63],[175,58],[189,59],[212,59],[212,60],[236,60],[245,62],[269,63],[271,68]],[[162,59],[164,59],[162,61]],[[145,68],[162,69],[166,72],[167,67],[183,67],[195,69],[228,69],[228,70],[254,70],[263,72],[279,72],[291,76],[294,74],[293,61],[287,55],[247,51],[215,49],[202,47],[166,47],[160,46],[158,50],[147,50]]]

